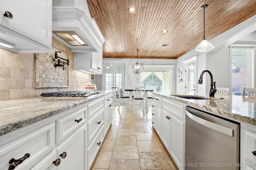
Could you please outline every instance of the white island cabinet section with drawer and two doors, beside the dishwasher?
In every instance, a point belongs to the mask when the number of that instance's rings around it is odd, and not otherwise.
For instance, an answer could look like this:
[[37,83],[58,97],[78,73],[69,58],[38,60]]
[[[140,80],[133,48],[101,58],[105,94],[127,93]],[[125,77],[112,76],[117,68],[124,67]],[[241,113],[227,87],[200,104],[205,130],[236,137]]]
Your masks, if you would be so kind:
[[184,169],[185,105],[162,99],[162,142],[179,169]]

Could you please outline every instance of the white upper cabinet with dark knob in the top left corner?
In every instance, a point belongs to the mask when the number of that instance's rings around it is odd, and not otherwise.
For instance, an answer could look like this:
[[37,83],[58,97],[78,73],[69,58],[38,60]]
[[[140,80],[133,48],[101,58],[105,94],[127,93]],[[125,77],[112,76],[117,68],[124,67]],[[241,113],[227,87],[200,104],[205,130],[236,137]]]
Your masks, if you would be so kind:
[[[4,16],[10,12],[9,19]],[[1,0],[1,40],[12,43],[17,53],[49,53],[52,51],[51,0]]]

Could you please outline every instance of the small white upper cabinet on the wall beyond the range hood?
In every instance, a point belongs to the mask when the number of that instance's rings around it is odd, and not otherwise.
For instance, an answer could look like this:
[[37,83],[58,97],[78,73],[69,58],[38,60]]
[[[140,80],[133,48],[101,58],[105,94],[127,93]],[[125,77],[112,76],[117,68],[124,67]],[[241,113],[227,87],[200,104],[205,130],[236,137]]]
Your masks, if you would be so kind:
[[99,52],[76,52],[74,53],[74,69],[90,74],[102,74],[103,45]]

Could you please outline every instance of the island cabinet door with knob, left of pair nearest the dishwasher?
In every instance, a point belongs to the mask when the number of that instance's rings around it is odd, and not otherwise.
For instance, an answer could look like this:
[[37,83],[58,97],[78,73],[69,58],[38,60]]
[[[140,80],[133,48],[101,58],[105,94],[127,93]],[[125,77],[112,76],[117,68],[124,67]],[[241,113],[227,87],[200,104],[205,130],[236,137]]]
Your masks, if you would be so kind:
[[166,149],[170,152],[171,143],[171,120],[170,113],[162,109],[162,142]]

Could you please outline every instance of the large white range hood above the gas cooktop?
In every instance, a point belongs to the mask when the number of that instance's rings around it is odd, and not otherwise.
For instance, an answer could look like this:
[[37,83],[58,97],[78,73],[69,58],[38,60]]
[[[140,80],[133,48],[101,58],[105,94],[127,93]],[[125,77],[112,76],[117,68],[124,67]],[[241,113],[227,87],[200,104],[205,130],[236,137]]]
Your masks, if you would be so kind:
[[[71,34],[84,43],[70,40],[74,37]],[[98,52],[105,42],[94,18],[90,16],[86,0],[52,1],[52,37],[69,47],[71,52]]]

